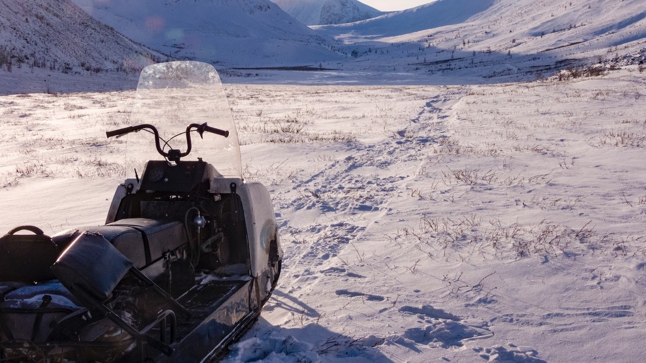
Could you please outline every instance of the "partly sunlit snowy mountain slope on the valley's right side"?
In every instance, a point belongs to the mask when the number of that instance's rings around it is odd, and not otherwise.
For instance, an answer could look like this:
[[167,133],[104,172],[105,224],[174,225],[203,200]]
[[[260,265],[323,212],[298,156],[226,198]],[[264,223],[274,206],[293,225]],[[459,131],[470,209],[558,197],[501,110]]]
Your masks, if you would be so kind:
[[343,41],[355,68],[451,72],[463,79],[533,79],[607,64],[646,48],[643,0],[439,0],[312,28]]

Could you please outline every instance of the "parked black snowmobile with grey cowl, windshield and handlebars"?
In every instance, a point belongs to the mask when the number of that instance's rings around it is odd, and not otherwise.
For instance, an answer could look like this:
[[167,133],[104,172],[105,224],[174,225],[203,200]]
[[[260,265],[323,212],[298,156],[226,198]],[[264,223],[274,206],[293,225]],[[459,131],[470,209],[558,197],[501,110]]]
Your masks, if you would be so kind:
[[0,362],[213,362],[271,296],[275,214],[266,187],[242,178],[213,66],[144,68],[130,123],[107,132],[134,178],[105,225],[0,238]]

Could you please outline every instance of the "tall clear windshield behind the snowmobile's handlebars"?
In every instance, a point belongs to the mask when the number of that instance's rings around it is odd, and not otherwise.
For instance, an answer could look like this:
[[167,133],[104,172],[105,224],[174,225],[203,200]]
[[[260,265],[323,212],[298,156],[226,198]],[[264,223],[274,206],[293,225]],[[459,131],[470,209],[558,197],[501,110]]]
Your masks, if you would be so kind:
[[[177,61],[150,65],[141,70],[130,125],[149,123],[161,138],[169,141],[164,150],[186,150],[186,137],[172,136],[186,130],[191,123],[228,130],[229,137],[205,132],[203,139],[191,132],[193,149],[182,160],[211,163],[227,178],[242,178],[238,134],[222,82],[212,65],[196,61]],[[129,170],[143,170],[148,160],[160,160],[154,137],[147,132],[127,136],[126,159]]]

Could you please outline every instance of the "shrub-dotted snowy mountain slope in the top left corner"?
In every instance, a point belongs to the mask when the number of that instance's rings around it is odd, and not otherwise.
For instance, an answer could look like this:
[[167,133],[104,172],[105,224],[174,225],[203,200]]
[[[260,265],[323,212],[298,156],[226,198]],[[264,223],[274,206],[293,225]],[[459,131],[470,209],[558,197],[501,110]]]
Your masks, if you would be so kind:
[[70,0],[0,0],[0,67],[140,70],[163,59],[99,23]]

